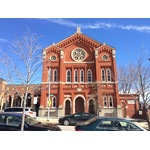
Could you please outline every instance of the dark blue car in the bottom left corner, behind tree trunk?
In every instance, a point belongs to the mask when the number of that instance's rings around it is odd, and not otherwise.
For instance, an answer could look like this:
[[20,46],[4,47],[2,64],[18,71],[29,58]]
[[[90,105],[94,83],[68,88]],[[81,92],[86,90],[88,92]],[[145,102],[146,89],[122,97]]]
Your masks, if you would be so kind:
[[[21,123],[21,113],[0,113],[0,131],[20,131]],[[55,124],[41,123],[25,115],[24,131],[61,131],[61,129]]]

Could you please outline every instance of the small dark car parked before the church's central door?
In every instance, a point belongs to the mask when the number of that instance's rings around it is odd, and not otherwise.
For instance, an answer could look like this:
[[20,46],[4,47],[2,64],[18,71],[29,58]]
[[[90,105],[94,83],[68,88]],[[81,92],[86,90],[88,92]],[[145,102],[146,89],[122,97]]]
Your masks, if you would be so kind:
[[79,112],[79,113],[75,113],[72,115],[66,115],[66,116],[60,117],[58,122],[59,124],[68,126],[68,125],[75,125],[77,122],[87,121],[93,117],[95,117],[95,115],[86,113],[86,112]]

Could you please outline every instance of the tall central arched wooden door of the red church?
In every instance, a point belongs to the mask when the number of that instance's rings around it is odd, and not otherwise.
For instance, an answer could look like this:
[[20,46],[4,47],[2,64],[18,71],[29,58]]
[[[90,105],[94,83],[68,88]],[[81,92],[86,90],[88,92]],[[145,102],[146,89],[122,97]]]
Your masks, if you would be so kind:
[[84,112],[84,100],[82,97],[78,97],[75,100],[75,113]]

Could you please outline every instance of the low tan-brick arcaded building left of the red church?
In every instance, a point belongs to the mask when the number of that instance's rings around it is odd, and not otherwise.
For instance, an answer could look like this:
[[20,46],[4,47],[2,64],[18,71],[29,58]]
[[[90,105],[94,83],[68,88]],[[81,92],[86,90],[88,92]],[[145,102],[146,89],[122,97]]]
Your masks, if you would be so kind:
[[[5,80],[0,79],[0,110],[5,107],[22,107],[26,88],[22,84],[7,84]],[[41,97],[41,85],[32,84],[29,86],[26,105],[35,107]],[[36,99],[36,102],[35,102]]]

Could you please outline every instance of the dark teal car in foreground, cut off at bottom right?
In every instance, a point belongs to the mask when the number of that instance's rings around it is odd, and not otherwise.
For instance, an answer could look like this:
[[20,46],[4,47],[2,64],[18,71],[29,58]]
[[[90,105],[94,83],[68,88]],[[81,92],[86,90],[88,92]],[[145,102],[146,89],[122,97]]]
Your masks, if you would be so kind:
[[94,117],[88,121],[77,123],[75,131],[147,131],[124,118]]

